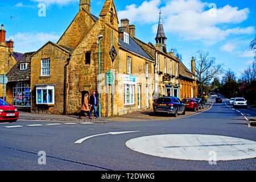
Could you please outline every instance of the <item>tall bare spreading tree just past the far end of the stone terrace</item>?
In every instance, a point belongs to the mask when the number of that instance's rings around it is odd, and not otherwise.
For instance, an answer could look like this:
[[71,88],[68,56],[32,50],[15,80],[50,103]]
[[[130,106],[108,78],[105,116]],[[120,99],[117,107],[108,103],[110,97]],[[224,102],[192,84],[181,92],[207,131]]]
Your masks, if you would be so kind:
[[195,69],[197,79],[201,82],[199,85],[199,96],[201,97],[204,88],[212,78],[221,75],[222,65],[216,65],[215,57],[210,57],[209,52],[197,51],[195,59]]

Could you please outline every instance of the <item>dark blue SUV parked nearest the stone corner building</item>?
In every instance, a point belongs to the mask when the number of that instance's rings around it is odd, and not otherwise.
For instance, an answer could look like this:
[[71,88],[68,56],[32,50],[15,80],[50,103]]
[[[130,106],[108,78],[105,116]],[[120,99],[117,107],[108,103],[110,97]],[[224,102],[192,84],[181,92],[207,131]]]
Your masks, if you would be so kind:
[[154,104],[154,114],[156,113],[174,114],[177,117],[179,113],[185,115],[186,107],[177,97],[159,97]]

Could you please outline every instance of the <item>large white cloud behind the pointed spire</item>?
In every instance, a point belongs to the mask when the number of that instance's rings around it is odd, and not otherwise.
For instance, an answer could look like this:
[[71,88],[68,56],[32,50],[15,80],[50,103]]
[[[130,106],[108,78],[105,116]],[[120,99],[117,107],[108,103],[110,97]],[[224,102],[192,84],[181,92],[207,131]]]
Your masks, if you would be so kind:
[[[239,10],[238,7],[226,5],[212,9],[209,3],[200,0],[164,2],[161,8],[164,30],[166,33],[179,35],[185,40],[201,40],[212,44],[225,40],[232,34],[253,34],[255,32],[254,27],[229,28],[229,25],[241,23],[248,18],[250,11],[247,8]],[[118,16],[128,18],[131,22],[155,23],[152,30],[156,33],[160,4],[160,0],[151,0],[144,1],[139,6],[129,5],[125,10],[118,11]]]

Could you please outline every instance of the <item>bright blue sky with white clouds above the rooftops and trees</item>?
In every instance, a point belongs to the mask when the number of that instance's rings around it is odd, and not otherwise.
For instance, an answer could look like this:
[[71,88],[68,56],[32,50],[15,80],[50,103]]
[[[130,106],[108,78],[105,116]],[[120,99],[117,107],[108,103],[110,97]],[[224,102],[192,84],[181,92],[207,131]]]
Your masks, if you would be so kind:
[[[39,3],[46,5],[46,16],[39,16]],[[91,0],[91,13],[98,16],[105,0]],[[256,35],[256,1],[238,0],[130,0],[114,1],[118,18],[130,19],[136,37],[155,44],[159,10],[162,10],[167,49],[175,47],[190,69],[191,57],[199,50],[208,51],[218,64],[231,68],[240,77],[254,60],[249,51]],[[79,11],[79,0],[3,1],[0,23],[6,38],[14,39],[14,51],[31,52],[51,40],[57,42]]]

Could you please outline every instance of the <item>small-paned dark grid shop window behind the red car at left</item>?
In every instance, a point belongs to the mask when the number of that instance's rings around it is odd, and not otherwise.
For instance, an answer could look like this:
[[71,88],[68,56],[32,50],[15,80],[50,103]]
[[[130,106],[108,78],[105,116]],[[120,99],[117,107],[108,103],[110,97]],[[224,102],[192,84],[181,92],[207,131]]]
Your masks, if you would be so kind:
[[29,83],[19,82],[13,86],[13,106],[31,106],[31,90]]

